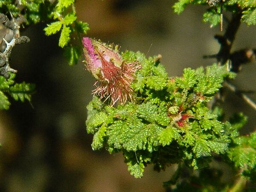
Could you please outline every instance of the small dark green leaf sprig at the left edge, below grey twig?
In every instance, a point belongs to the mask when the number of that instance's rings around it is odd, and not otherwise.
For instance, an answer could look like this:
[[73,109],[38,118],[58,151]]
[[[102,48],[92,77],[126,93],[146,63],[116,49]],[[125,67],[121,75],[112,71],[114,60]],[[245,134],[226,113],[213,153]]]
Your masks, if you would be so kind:
[[32,93],[35,92],[35,85],[28,83],[15,83],[15,74],[11,74],[9,79],[0,76],[0,109],[9,109],[10,102],[6,94],[13,99],[24,102],[25,99],[30,102]]

